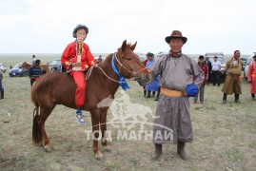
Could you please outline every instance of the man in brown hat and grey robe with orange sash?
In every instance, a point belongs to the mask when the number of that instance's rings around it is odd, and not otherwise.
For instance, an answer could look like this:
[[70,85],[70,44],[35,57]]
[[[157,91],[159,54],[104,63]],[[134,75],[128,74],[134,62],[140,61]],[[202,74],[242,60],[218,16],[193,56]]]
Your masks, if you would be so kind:
[[178,155],[187,160],[185,143],[193,141],[188,97],[197,94],[205,76],[197,63],[182,53],[187,37],[181,31],[173,30],[166,42],[170,47],[169,54],[149,66],[153,78],[160,75],[161,86],[153,126],[155,150],[152,158],[161,156],[163,143],[173,142],[178,143]]

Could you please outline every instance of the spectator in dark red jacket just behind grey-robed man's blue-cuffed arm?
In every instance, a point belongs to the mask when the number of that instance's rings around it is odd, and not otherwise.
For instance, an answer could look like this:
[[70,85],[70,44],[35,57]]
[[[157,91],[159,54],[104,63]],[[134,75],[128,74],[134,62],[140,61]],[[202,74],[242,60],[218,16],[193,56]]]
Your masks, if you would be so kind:
[[204,104],[204,95],[205,95],[205,85],[207,85],[207,79],[208,79],[208,66],[206,63],[204,63],[204,56],[199,56],[198,58],[198,66],[203,70],[205,74],[205,80],[203,81],[203,84],[200,86],[199,93],[194,97],[193,103],[197,103],[198,94],[200,94],[200,103]]

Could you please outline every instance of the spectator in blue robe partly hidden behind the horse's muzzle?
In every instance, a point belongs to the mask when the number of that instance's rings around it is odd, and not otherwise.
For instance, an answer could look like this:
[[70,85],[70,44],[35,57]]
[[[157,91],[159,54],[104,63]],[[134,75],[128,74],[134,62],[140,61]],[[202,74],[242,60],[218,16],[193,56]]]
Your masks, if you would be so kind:
[[[148,62],[146,64],[146,67],[151,66],[153,63],[156,62],[156,60],[154,59],[154,54],[148,52],[147,53],[147,59]],[[145,88],[148,91],[148,95],[146,96],[146,98],[150,98],[151,97],[151,91],[153,91],[153,96],[155,95],[155,91],[158,90],[158,78],[155,78],[154,80],[152,80],[151,83],[149,83],[148,85],[146,85]]]

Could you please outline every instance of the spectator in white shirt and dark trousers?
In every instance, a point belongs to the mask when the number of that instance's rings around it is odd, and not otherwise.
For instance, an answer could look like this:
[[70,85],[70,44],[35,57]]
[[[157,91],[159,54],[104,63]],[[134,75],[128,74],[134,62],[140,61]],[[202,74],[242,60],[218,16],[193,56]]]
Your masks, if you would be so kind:
[[215,86],[216,84],[220,86],[220,73],[221,73],[221,62],[217,61],[218,57],[213,57],[213,62],[211,63],[211,71],[212,71],[212,84]]

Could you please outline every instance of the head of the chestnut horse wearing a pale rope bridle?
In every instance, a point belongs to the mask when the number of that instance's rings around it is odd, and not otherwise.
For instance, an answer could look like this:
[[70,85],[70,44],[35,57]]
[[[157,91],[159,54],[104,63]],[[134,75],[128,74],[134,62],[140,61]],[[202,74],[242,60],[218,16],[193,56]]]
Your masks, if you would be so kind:
[[151,82],[150,71],[143,65],[138,55],[134,53],[136,45],[137,42],[131,45],[125,40],[122,47],[118,48],[114,62],[123,77],[134,79],[142,85],[147,85]]

